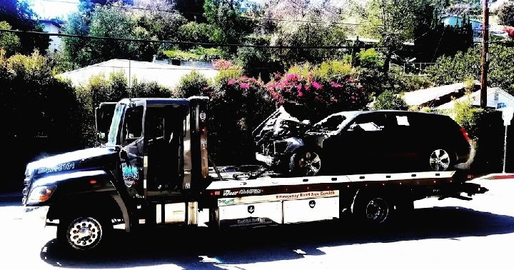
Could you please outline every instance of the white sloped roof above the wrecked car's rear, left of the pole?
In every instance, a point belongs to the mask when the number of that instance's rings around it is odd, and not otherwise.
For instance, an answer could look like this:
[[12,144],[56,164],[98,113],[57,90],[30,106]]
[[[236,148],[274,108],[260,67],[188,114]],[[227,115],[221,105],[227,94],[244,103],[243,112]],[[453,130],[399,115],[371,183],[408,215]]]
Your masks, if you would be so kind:
[[406,92],[403,95],[403,99],[405,100],[408,106],[420,106],[427,102],[437,100],[441,96],[446,96],[448,94],[455,93],[456,91],[460,91],[460,89],[463,88],[463,83],[457,83],[427,89],[420,89],[416,91]]

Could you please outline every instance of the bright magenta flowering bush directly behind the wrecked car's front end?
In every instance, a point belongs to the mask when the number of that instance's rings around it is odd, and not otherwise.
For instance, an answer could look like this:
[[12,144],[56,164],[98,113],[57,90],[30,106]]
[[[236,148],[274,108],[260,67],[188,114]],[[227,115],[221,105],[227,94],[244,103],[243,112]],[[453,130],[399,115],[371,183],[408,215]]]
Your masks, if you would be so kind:
[[306,113],[303,119],[312,121],[338,111],[360,110],[369,102],[366,89],[350,76],[335,75],[330,80],[319,81],[314,78],[312,73],[275,76],[266,84],[266,90],[278,106],[285,103],[303,106]]

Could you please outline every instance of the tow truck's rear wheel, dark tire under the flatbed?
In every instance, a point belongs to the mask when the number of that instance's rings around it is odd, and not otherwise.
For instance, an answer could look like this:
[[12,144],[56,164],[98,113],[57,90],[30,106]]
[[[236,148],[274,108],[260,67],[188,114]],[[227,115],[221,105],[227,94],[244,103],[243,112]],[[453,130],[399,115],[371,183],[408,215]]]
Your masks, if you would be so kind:
[[388,224],[393,205],[384,194],[361,190],[353,201],[352,214],[359,225],[376,228]]

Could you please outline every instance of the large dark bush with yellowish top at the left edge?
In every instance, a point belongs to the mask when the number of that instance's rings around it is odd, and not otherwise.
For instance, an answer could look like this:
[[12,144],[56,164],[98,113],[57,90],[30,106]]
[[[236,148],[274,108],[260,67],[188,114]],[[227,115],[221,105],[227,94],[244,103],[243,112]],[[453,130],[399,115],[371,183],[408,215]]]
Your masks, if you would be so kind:
[[9,179],[19,179],[19,172],[41,152],[79,148],[81,118],[74,88],[54,78],[46,57],[37,51],[6,57],[1,51],[0,114],[5,117],[0,139],[9,142],[6,153],[16,153],[5,161],[9,186]]

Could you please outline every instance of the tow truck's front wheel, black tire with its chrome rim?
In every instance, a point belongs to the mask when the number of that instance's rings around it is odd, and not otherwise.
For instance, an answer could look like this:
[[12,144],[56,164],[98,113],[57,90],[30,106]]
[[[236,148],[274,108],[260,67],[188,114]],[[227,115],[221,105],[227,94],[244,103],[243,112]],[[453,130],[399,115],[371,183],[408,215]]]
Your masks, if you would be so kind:
[[57,242],[66,253],[95,252],[107,246],[113,230],[111,219],[103,214],[71,214],[59,220]]

